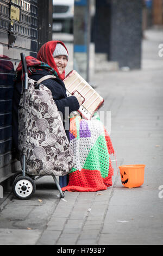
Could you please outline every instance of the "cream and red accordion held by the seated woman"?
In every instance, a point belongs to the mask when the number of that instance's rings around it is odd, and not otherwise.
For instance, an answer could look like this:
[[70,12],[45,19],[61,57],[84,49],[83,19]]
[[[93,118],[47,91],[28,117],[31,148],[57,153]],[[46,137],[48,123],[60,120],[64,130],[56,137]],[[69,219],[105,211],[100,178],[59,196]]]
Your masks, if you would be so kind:
[[103,106],[104,99],[87,83],[76,70],[72,70],[64,79],[67,96],[79,94],[82,105],[78,109],[83,118],[90,120],[93,114]]

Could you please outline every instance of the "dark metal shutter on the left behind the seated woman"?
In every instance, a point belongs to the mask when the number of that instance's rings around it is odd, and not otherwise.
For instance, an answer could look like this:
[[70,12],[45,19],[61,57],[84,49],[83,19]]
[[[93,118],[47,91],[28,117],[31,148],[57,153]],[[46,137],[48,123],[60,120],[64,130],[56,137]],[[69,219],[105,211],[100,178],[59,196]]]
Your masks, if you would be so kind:
[[[10,8],[13,4],[21,9],[20,22],[14,20],[13,34],[9,34]],[[36,57],[37,0],[0,0],[0,182],[11,175],[12,162],[14,164],[12,93],[15,69],[20,62],[21,52],[26,56]]]

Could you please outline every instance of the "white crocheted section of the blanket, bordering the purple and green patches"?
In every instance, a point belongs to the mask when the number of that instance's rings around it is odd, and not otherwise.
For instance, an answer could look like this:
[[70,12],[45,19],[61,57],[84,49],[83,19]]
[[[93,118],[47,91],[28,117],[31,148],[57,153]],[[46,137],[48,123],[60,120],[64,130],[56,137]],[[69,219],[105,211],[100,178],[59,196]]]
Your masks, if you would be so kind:
[[74,168],[82,170],[87,156],[93,145],[95,145],[99,136],[104,135],[104,126],[99,120],[87,120],[91,137],[72,139],[70,141],[71,148],[74,153]]

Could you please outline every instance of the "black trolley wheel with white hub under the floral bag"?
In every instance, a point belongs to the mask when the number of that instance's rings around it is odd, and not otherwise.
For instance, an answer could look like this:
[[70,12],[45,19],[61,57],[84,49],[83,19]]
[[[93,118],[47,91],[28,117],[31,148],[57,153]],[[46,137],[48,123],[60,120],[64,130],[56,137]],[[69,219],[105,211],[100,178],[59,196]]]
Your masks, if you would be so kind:
[[28,176],[18,176],[13,183],[13,193],[19,199],[28,199],[35,193],[36,185]]

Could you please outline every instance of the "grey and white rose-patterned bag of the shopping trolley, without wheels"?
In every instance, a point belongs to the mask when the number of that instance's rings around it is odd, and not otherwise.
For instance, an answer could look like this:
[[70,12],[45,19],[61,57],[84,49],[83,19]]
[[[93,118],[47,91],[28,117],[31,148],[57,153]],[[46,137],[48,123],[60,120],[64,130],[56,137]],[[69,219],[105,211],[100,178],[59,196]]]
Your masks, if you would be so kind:
[[35,89],[35,83],[28,78],[18,109],[21,162],[25,154],[30,175],[66,175],[74,166],[73,151],[51,90],[43,84]]

